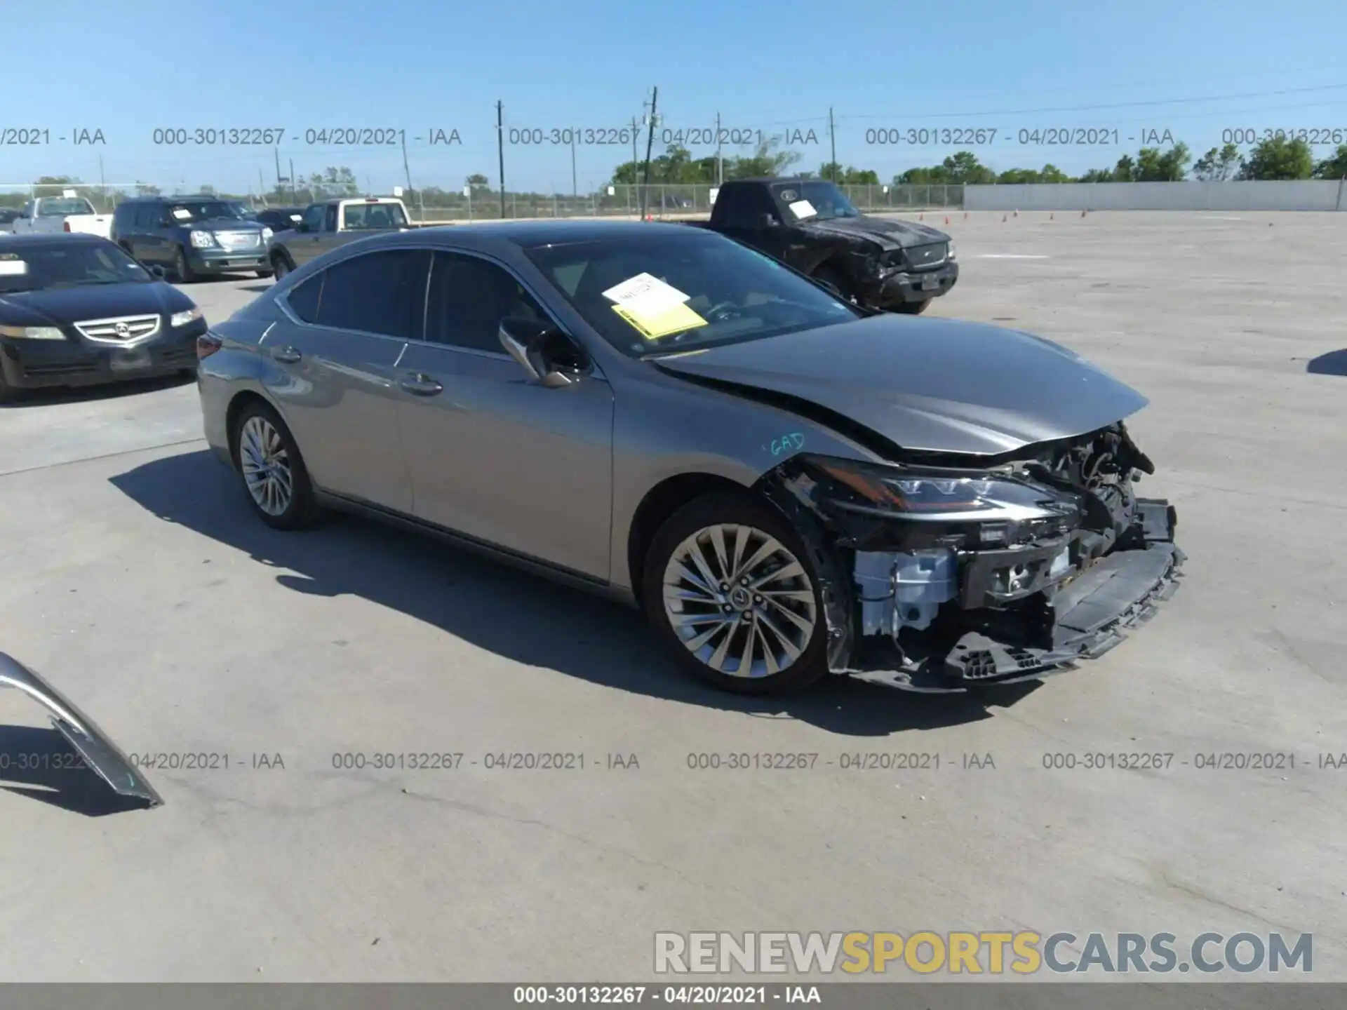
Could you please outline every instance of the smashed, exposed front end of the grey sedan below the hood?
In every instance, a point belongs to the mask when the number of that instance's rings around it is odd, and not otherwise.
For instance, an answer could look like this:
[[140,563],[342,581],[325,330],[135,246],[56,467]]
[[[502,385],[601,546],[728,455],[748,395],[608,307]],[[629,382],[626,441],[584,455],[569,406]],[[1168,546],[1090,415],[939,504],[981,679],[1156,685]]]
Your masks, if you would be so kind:
[[1168,501],[1122,422],[1002,458],[800,455],[764,479],[824,575],[828,665],[916,691],[1099,656],[1177,584]]

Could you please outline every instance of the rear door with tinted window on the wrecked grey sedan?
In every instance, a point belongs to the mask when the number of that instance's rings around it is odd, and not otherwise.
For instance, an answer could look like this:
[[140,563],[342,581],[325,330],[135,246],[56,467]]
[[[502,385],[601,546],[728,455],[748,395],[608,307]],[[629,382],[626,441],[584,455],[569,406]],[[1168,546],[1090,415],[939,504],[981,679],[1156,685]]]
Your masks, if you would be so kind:
[[380,249],[333,264],[284,296],[298,322],[265,338],[272,388],[319,487],[409,514],[395,366],[422,334],[430,252]]

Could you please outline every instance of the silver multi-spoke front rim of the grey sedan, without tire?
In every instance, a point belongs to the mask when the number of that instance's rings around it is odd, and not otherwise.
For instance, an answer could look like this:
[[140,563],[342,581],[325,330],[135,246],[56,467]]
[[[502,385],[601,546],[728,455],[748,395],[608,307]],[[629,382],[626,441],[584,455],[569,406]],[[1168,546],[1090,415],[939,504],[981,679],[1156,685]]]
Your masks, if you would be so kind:
[[818,626],[814,584],[776,537],[737,523],[699,529],[664,568],[664,615],[687,650],[731,677],[769,677]]

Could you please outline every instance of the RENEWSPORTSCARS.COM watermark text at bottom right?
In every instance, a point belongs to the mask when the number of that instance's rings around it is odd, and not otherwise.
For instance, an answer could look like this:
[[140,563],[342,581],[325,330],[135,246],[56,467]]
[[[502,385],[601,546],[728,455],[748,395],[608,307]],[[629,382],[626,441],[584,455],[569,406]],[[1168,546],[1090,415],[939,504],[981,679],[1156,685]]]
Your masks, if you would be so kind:
[[1313,933],[1200,933],[1191,943],[1173,933],[656,933],[655,972],[1309,974],[1313,945]]

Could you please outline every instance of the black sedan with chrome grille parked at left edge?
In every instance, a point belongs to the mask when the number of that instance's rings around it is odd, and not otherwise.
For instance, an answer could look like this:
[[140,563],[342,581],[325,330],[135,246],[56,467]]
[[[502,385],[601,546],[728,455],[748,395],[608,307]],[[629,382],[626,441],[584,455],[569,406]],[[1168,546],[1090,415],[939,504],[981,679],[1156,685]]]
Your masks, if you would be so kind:
[[197,368],[195,303],[106,238],[0,236],[0,401]]

